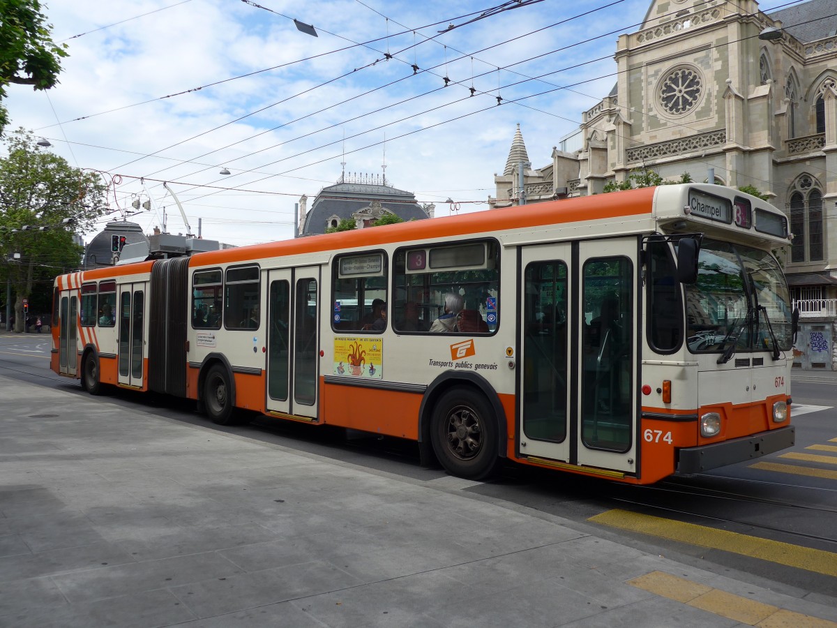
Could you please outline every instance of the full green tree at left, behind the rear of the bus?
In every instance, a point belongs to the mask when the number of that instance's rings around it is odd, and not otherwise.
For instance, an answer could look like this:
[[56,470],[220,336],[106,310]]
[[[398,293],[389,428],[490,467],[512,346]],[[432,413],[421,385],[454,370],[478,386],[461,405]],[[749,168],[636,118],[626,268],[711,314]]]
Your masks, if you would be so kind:
[[[105,209],[97,172],[71,167],[18,129],[0,159],[0,280],[15,294],[15,331],[23,330],[23,299],[51,301],[52,279],[77,269],[81,247],[73,234],[93,227]],[[37,290],[36,290],[37,288]],[[41,294],[46,293],[46,296]]]

